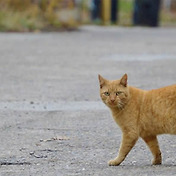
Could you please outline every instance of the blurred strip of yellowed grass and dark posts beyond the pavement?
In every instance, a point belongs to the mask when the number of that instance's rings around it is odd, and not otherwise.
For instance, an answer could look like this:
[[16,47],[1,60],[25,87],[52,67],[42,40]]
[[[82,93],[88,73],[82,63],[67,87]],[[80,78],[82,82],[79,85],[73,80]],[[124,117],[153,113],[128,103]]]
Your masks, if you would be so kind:
[[0,0],[0,31],[80,25],[176,26],[176,0]]

